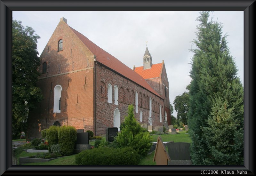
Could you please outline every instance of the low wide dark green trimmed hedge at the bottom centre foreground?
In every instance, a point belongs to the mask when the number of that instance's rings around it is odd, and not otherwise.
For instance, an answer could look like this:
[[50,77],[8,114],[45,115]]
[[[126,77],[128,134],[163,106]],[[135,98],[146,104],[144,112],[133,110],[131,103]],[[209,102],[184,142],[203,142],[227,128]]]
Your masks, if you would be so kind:
[[76,155],[78,165],[137,165],[140,155],[131,147],[93,148]]

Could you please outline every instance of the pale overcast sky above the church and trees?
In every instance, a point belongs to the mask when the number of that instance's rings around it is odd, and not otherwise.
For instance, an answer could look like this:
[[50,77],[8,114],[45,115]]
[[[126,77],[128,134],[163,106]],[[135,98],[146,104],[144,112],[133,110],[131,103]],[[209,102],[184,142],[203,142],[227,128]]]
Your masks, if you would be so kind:
[[[223,35],[228,33],[230,53],[238,68],[237,76],[244,84],[244,12],[211,12],[213,20],[223,24]],[[93,43],[107,51],[129,68],[143,66],[143,55],[148,41],[148,50],[153,64],[164,60],[169,81],[170,103],[177,95],[187,91],[191,81],[189,64],[195,45],[196,11],[13,11],[14,20],[30,26],[41,38],[37,49],[41,55],[52,36],[60,18],[67,19],[70,27],[76,29]],[[176,112],[173,114],[175,117]]]

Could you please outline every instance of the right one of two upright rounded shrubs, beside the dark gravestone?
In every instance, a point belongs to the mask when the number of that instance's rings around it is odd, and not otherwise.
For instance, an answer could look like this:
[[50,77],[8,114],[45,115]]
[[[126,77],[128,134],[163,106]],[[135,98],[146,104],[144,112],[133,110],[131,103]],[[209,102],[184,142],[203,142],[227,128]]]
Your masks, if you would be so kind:
[[58,130],[60,151],[62,155],[72,155],[76,142],[76,128],[73,126],[61,126]]

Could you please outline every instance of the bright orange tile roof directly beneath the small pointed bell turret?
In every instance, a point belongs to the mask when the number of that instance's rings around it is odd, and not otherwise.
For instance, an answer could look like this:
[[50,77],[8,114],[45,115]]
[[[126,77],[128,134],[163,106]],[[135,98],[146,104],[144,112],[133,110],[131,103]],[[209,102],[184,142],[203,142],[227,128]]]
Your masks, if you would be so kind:
[[153,64],[151,68],[145,70],[143,69],[143,66],[135,67],[134,71],[142,76],[144,79],[158,78],[161,74],[162,66],[163,62],[159,64]]

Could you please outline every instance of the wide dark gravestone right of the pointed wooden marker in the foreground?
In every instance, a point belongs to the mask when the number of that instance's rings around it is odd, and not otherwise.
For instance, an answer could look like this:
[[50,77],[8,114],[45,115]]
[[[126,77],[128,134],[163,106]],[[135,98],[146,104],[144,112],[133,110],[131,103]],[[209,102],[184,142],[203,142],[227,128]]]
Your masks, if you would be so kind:
[[169,143],[168,154],[171,160],[190,160],[189,147],[190,143],[186,142],[174,142]]

